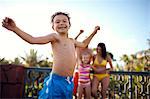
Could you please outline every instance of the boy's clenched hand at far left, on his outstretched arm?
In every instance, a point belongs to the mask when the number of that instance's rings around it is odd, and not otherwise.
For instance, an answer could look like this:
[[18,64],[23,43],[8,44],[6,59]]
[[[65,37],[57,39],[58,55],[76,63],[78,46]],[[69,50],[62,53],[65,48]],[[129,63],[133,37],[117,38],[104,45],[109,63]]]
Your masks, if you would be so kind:
[[16,28],[15,22],[11,18],[8,18],[8,17],[3,19],[2,26],[11,31],[14,31]]

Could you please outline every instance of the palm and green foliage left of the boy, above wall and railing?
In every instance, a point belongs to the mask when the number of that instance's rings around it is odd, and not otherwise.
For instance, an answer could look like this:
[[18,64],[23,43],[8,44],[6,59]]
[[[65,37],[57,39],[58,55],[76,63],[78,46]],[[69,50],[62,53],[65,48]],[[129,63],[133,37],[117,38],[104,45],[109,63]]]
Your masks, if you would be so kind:
[[7,60],[5,58],[0,58],[0,65],[2,64],[16,64],[16,65],[24,64],[26,67],[38,66],[51,68],[53,62],[49,61],[48,58],[41,60],[41,56],[37,55],[37,51],[35,51],[34,49],[30,49],[29,53],[25,53],[25,57],[22,56],[16,57],[14,60]]

